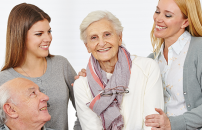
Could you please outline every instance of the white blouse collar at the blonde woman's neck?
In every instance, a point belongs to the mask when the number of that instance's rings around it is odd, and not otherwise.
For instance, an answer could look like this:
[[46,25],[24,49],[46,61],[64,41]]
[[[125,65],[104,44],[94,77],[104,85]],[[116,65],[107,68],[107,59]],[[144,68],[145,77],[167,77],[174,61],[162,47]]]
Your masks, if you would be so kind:
[[[184,46],[187,42],[191,40],[191,34],[188,31],[185,31],[178,39],[177,41],[172,44],[168,49],[173,49],[177,55],[180,54]],[[163,54],[164,49],[164,43],[161,45],[161,48],[159,50],[159,53],[157,54],[156,58],[159,57],[160,54]]]

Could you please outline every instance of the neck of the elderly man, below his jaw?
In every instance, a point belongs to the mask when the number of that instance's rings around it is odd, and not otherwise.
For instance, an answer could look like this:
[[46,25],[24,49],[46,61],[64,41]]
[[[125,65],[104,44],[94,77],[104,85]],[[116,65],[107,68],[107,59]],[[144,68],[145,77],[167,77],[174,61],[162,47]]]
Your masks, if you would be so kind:
[[22,122],[19,120],[12,120],[6,122],[6,126],[10,130],[41,130],[41,128],[44,126],[45,122],[43,123],[28,123],[28,122]]

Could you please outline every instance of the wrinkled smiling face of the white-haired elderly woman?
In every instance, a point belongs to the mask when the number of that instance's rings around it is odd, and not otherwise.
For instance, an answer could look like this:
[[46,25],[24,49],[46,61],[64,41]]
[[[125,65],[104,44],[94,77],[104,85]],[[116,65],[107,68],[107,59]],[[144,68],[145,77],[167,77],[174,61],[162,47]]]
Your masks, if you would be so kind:
[[122,36],[118,36],[113,24],[107,19],[93,22],[87,29],[87,50],[100,62],[117,61]]

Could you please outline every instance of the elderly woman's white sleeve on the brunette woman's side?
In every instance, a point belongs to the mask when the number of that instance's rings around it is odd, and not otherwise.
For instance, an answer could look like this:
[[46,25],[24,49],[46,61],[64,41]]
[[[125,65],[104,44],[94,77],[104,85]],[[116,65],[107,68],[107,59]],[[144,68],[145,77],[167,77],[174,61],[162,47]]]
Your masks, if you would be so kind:
[[82,130],[102,130],[102,122],[86,104],[93,99],[86,77],[80,77],[74,82],[75,104]]

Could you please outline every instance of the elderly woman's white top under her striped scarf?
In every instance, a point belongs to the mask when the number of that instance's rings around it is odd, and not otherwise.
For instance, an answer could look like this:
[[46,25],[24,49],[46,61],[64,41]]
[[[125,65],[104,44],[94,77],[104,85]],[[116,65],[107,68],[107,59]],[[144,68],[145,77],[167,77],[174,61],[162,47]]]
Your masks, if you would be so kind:
[[[107,74],[110,78],[111,74]],[[93,99],[87,77],[74,82],[76,110],[82,130],[102,130],[102,121],[86,104]],[[123,96],[122,130],[151,130],[145,126],[145,116],[154,114],[155,108],[164,108],[163,88],[158,64],[149,58],[136,57],[132,62],[129,93]]]

